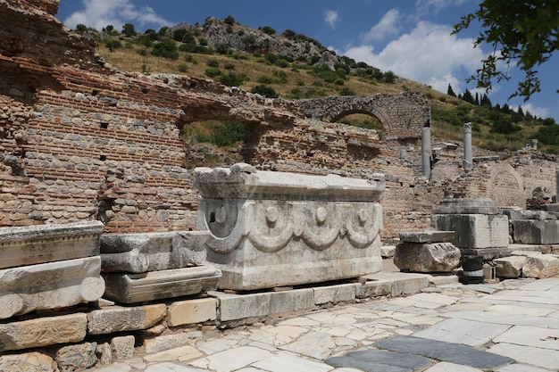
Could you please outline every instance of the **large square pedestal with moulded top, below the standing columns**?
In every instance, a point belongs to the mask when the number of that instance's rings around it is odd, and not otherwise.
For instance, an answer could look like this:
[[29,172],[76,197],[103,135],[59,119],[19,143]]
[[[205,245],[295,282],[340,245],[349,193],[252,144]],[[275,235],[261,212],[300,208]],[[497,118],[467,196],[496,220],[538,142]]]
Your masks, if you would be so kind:
[[463,254],[493,259],[509,244],[508,218],[490,199],[445,199],[433,221],[438,230],[455,231],[452,244]]

